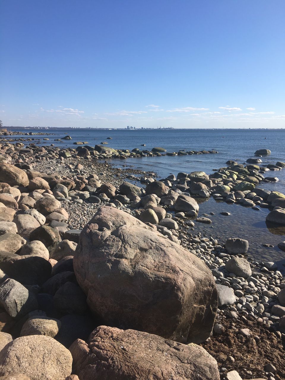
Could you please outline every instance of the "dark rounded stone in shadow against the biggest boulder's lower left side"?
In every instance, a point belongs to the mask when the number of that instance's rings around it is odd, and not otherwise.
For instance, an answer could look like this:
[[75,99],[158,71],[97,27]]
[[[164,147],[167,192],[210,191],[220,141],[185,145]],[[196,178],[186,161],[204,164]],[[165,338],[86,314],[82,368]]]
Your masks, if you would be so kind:
[[54,295],[54,306],[62,314],[84,314],[87,310],[86,295],[73,282],[66,282]]

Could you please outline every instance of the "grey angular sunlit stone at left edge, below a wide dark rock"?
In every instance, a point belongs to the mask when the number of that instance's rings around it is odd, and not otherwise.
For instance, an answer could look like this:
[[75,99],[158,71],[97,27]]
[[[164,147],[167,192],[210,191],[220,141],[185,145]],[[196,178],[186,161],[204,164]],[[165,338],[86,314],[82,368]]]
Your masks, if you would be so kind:
[[35,294],[30,293],[21,283],[7,279],[0,285],[0,306],[16,318],[35,310],[38,303]]

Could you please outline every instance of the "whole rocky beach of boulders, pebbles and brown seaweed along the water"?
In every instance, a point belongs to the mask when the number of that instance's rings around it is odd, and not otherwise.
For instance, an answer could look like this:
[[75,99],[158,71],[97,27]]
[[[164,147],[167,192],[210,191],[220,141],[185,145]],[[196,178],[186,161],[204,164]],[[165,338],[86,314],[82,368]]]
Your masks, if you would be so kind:
[[0,379],[285,379],[284,267],[199,211],[283,228],[281,158],[160,178],[114,162],[218,150],[24,139],[0,142]]

